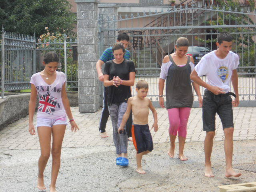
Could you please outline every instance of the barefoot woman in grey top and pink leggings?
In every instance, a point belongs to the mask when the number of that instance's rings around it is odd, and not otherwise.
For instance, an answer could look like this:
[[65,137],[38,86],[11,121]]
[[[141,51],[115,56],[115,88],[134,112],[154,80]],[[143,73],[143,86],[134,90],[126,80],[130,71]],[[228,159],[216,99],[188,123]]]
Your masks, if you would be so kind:
[[175,52],[164,57],[161,66],[159,78],[159,103],[164,108],[164,82],[166,80],[166,108],[169,116],[169,135],[170,149],[168,155],[174,157],[175,139],[178,132],[179,138],[179,156],[182,161],[188,160],[183,154],[184,144],[187,134],[187,123],[190,115],[190,109],[193,104],[192,85],[200,107],[202,106],[202,97],[198,84],[190,80],[190,73],[194,70],[194,59],[187,56],[188,39],[178,38],[175,44]]

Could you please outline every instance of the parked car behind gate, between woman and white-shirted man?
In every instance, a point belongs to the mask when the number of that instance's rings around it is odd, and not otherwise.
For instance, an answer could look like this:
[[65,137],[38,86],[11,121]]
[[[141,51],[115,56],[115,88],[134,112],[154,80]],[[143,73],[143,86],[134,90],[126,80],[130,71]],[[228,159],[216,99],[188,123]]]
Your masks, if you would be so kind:
[[198,64],[198,62],[201,60],[201,58],[211,52],[211,48],[204,45],[194,45],[194,46],[188,46],[188,52],[187,55],[192,56],[195,61],[195,65]]

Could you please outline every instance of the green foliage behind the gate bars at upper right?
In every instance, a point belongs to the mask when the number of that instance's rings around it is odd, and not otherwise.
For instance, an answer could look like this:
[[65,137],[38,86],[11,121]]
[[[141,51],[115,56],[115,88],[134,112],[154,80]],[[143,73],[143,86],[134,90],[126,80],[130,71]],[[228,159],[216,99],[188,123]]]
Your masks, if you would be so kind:
[[[236,12],[242,11],[242,6],[240,6],[239,2],[236,0],[216,0],[216,4],[218,4],[218,9],[220,10],[235,10]],[[254,0],[249,0],[250,9],[253,11],[255,2]],[[217,7],[213,7],[217,9]],[[243,8],[244,9],[244,8]],[[248,8],[245,8],[242,12],[247,12]],[[216,32],[229,32],[234,36],[233,51],[235,51],[240,56],[240,64],[242,66],[255,66],[255,28],[242,28],[242,27],[234,27],[234,28],[210,28],[211,25],[250,25],[254,24],[254,22],[248,16],[242,16],[242,14],[224,14],[223,12],[219,12],[218,18],[214,17],[212,20],[208,20],[206,22],[209,25],[209,29],[216,33]],[[204,42],[208,45],[211,43],[217,42],[217,36],[215,38],[208,38],[203,39],[195,36],[195,39],[199,42]],[[244,69],[247,72],[254,72],[254,68]]]

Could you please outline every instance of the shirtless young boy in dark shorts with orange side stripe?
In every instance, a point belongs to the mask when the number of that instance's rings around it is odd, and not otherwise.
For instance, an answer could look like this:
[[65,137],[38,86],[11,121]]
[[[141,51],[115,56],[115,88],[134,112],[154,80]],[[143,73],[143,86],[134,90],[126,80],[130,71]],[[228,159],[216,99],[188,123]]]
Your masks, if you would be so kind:
[[126,121],[128,120],[130,115],[130,111],[132,109],[132,113],[134,115],[134,125],[132,125],[132,140],[134,147],[137,151],[136,171],[140,174],[145,174],[146,172],[142,169],[141,166],[142,156],[148,154],[153,150],[152,136],[150,134],[148,126],[148,108],[150,108],[153,113],[154,124],[152,128],[154,127],[154,132],[158,130],[157,113],[150,99],[146,98],[148,94],[148,83],[146,81],[140,80],[136,84],[136,92],[136,96],[130,97],[128,99],[127,110],[123,116],[120,128],[118,128],[118,133],[122,134],[122,131],[124,130],[124,125],[126,124]]

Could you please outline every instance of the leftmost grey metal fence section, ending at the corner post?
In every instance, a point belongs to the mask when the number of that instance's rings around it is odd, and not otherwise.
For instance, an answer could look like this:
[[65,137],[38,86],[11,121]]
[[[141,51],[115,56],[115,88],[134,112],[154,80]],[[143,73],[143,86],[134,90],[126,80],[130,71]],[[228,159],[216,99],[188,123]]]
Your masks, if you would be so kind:
[[36,72],[35,36],[5,32],[2,29],[1,90],[30,89],[30,77]]

